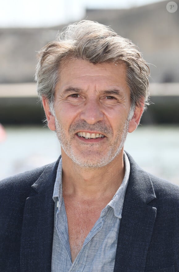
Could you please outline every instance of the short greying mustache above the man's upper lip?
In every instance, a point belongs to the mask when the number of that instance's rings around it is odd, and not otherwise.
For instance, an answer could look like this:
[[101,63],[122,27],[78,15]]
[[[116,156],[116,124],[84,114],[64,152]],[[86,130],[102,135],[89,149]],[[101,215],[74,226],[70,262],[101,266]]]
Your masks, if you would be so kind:
[[95,123],[94,125],[90,125],[86,121],[78,120],[74,122],[73,124],[71,124],[69,127],[70,133],[75,133],[76,131],[79,131],[79,130],[81,131],[87,130],[89,132],[99,131],[106,135],[113,134],[112,128],[103,122],[98,122],[98,123]]

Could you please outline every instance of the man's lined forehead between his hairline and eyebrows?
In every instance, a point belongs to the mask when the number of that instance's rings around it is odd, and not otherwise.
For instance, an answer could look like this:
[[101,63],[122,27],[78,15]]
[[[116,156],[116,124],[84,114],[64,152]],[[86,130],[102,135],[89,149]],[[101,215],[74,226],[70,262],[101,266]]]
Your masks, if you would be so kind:
[[61,90],[67,86],[85,87],[94,83],[101,88],[103,85],[128,88],[126,65],[123,62],[93,64],[87,60],[69,59],[61,63],[59,73],[57,85]]

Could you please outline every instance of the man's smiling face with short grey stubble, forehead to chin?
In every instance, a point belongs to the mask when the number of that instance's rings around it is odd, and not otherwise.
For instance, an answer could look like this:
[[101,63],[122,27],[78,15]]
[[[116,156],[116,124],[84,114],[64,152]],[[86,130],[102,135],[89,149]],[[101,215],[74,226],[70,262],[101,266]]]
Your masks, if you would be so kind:
[[74,163],[105,166],[123,149],[130,105],[124,64],[69,60],[61,65],[56,116],[48,126],[56,130],[62,153]]

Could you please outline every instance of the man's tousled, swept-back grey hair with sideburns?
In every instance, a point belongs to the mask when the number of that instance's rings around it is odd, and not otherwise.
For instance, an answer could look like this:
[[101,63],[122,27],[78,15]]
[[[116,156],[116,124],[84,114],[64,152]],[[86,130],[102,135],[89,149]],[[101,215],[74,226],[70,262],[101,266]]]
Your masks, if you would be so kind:
[[127,67],[127,85],[131,91],[130,117],[135,106],[146,108],[149,105],[150,69],[139,48],[110,27],[89,20],[69,24],[55,41],[40,50],[37,58],[37,92],[40,99],[47,98],[52,114],[55,87],[60,80],[60,64],[71,58],[81,58],[94,64],[122,61]]

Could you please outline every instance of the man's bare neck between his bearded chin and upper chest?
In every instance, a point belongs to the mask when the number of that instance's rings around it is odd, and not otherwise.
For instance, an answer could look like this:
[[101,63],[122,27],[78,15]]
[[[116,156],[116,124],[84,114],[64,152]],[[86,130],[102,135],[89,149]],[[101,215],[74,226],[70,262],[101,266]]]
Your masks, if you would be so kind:
[[113,197],[125,174],[123,150],[108,165],[88,169],[75,164],[63,150],[61,153],[63,195],[91,200]]

